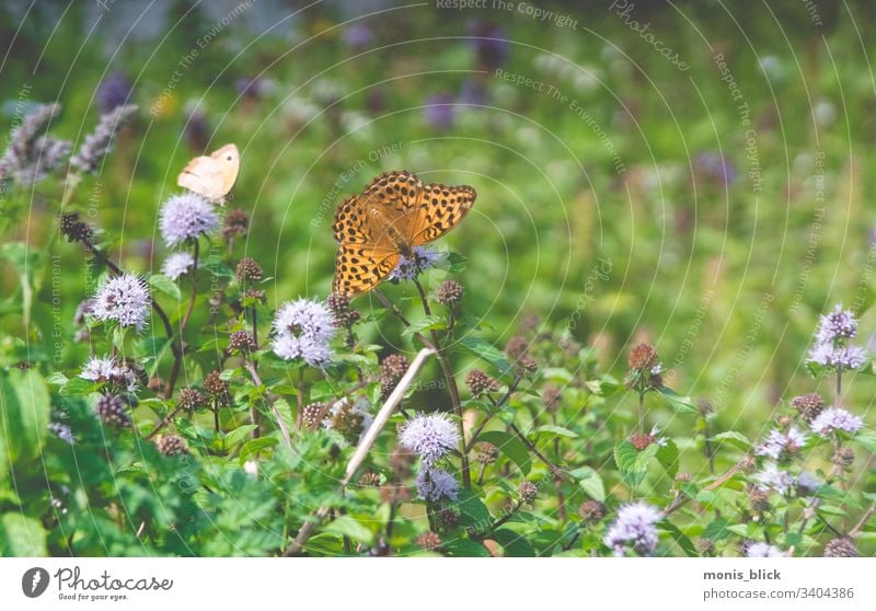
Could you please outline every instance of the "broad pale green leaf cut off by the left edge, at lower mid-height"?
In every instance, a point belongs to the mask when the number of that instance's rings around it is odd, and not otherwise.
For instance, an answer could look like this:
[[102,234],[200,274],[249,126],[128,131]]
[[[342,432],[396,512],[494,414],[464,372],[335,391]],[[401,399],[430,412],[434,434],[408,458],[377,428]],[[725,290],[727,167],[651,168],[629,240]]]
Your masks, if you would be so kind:
[[30,461],[41,456],[48,433],[48,387],[36,369],[0,373],[0,476],[2,462]]

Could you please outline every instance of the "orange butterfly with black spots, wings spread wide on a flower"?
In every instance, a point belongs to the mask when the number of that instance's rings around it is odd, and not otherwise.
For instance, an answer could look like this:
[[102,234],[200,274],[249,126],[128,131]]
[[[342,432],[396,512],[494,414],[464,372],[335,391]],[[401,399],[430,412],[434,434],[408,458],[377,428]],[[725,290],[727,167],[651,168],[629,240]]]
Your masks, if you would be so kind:
[[356,297],[387,278],[401,256],[456,227],[477,197],[470,186],[424,184],[406,171],[381,174],[345,199],[332,230],[338,242],[334,291]]

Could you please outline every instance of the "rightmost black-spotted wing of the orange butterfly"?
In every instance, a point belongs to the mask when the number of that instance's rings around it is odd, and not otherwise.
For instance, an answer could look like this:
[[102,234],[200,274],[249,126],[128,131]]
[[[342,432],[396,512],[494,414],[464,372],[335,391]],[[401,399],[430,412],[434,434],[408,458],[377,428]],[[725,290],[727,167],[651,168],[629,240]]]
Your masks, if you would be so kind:
[[437,240],[461,221],[474,206],[477,193],[468,185],[424,185],[407,228],[408,243],[422,246]]

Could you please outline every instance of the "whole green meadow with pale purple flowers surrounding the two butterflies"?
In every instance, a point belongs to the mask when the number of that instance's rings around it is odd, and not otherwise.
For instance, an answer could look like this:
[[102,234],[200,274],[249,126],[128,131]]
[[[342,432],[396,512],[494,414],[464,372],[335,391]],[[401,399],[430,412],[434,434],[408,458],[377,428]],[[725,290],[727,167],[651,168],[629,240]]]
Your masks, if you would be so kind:
[[[756,145],[727,105],[735,81],[679,39],[714,113],[681,120],[734,136],[724,151],[715,134],[673,147],[647,107],[664,90],[598,37],[462,15],[434,54],[414,42],[393,55],[403,15],[332,7],[288,25],[315,37],[310,68],[277,68],[298,38],[262,39],[244,12],[183,18],[198,32],[229,21],[198,56],[209,79],[174,68],[201,39],[176,27],[170,59],[146,60],[58,22],[61,41],[88,43],[87,95],[51,89],[64,49],[25,20],[51,78],[3,85],[0,553],[874,555],[872,181],[840,157],[849,134],[829,130],[874,125],[850,109],[816,117],[817,145],[780,138],[807,82],[829,103],[831,74],[809,64],[796,82],[791,50],[733,50],[726,25],[699,15],[752,83]],[[112,18],[107,41],[122,36]],[[599,20],[619,45],[641,38]],[[568,57],[515,43],[533,28]],[[825,53],[811,41],[794,44]],[[30,66],[14,51],[10,82]],[[672,82],[676,65],[637,53]],[[349,58],[359,67],[332,71]],[[384,82],[385,65],[407,77]],[[406,81],[424,70],[437,80]],[[593,123],[522,74],[587,100]],[[175,184],[232,141],[224,201]],[[771,165],[787,151],[794,169]],[[469,184],[476,203],[373,290],[335,293],[335,209],[393,170]]]

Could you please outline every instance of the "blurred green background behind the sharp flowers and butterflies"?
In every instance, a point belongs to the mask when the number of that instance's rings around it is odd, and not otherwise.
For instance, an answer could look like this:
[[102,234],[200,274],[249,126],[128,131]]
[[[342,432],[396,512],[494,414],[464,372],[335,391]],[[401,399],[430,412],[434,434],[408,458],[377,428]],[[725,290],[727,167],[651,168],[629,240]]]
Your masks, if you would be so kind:
[[[537,315],[618,376],[648,338],[668,383],[712,399],[727,427],[761,428],[816,389],[805,355],[834,303],[869,342],[872,2],[440,4],[5,1],[3,117],[58,101],[51,131],[79,143],[102,105],[140,105],[72,203],[135,270],[166,254],[157,212],[186,161],[235,142],[231,206],[252,212],[272,303],[328,293],[334,208],[376,174],[473,185],[474,211],[438,245],[469,260],[459,279],[485,335]],[[94,278],[49,234],[60,192],[4,194],[0,222],[59,255],[69,320]],[[0,263],[12,336],[19,290]],[[61,365],[85,349],[67,344]],[[868,387],[848,385],[862,415]]]

